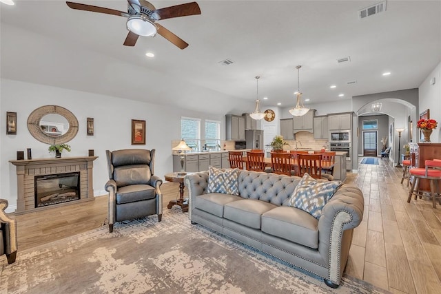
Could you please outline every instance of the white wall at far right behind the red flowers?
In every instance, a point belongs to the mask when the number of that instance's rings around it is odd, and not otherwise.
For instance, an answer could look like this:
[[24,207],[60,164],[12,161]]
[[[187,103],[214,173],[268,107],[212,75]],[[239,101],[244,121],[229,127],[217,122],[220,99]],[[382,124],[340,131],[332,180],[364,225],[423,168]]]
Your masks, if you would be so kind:
[[[430,83],[432,78],[435,78],[434,85]],[[418,90],[420,112],[430,109],[430,118],[438,122],[438,127],[430,136],[431,142],[441,143],[441,63],[424,79]]]

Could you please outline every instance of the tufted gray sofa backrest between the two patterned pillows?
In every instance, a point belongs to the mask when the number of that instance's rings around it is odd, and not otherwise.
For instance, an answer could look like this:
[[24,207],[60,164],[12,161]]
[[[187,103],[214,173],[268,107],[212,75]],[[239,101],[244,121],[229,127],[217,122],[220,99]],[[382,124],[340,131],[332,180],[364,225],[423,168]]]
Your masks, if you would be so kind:
[[299,177],[243,170],[239,172],[238,177],[240,197],[258,199],[281,206],[294,192],[301,179]]

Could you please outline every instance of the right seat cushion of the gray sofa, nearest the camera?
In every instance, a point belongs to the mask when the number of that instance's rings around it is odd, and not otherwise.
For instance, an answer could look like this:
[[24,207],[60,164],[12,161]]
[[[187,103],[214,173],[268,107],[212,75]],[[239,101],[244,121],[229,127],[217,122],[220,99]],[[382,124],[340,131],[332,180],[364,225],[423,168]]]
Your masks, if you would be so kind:
[[312,249],[318,249],[318,220],[301,209],[276,207],[263,213],[262,231]]

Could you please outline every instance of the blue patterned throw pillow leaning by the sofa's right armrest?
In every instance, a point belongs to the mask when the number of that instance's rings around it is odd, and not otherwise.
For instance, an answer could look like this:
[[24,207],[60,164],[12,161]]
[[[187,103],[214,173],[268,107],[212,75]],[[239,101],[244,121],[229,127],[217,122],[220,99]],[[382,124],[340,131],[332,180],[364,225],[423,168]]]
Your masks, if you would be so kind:
[[289,198],[289,206],[302,209],[318,219],[323,207],[340,185],[342,185],[340,180],[318,182],[309,174],[305,174]]

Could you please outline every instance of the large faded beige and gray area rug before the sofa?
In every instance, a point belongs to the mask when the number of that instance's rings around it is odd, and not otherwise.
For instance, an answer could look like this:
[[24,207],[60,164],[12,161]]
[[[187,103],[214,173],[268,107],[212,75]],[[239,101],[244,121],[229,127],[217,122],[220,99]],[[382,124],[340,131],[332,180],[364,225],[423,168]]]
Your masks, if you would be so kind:
[[[6,259],[5,259],[6,260]],[[1,261],[3,262],[3,260]],[[340,288],[167,211],[19,251],[0,262],[0,293],[384,293],[344,277]]]

